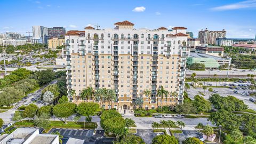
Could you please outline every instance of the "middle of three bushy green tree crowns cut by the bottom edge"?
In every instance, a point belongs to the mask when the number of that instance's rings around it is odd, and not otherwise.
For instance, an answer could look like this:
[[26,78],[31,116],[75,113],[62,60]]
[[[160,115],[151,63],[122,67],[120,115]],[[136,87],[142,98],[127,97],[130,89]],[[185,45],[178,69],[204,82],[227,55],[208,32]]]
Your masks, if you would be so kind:
[[178,144],[179,141],[174,137],[170,135],[157,135],[155,138],[152,140],[152,144]]

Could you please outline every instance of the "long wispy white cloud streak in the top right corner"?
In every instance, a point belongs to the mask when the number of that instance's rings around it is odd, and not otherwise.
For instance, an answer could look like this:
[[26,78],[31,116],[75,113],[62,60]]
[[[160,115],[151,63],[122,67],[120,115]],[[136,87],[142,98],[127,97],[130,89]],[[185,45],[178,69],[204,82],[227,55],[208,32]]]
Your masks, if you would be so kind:
[[213,11],[225,11],[225,10],[236,10],[236,9],[245,9],[250,7],[256,7],[256,0],[247,0],[239,3],[222,5],[218,7],[213,7]]

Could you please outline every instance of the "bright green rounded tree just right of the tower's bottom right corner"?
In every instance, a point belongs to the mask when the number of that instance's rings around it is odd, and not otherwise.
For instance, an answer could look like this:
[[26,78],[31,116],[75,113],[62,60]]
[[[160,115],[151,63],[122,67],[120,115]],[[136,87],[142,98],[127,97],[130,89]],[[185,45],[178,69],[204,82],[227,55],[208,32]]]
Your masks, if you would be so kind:
[[196,108],[198,113],[211,110],[211,103],[199,95],[195,95],[193,106]]

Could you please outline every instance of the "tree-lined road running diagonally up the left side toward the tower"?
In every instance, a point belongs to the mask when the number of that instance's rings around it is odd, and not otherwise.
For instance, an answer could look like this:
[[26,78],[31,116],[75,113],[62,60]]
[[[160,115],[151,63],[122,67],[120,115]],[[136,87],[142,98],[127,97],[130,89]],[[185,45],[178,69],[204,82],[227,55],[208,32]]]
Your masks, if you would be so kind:
[[[51,83],[47,84],[47,85],[50,85],[50,84],[55,84],[57,83],[56,80],[52,81]],[[2,118],[4,120],[4,124],[8,124],[8,123],[11,123],[13,122],[12,121],[12,117],[14,115],[14,112],[15,110],[17,110],[21,105],[29,105],[30,103],[33,103],[31,101],[32,98],[38,100],[40,97],[41,97],[41,94],[42,94],[42,90],[44,89],[44,87],[46,87],[47,85],[44,85],[42,86],[39,90],[33,92],[33,93],[29,93],[28,94],[28,98],[25,99],[25,100],[20,100],[17,105],[15,105],[12,109],[9,109],[7,111],[5,111],[4,113],[0,113],[0,118]],[[43,103],[37,103],[37,102],[34,102],[35,105],[37,105],[38,107],[42,107],[44,106]]]

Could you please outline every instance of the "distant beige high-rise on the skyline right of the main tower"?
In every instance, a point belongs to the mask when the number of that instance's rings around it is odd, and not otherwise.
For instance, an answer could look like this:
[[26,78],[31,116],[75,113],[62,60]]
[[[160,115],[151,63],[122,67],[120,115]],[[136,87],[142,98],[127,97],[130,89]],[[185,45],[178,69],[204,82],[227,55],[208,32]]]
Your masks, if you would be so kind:
[[226,31],[209,31],[207,28],[198,32],[198,38],[201,44],[216,44],[216,38],[226,37]]

